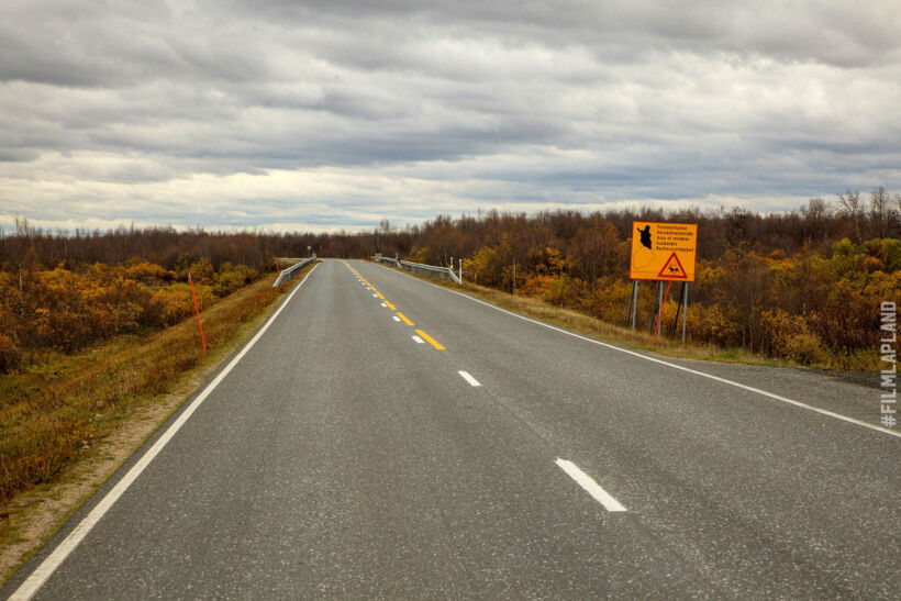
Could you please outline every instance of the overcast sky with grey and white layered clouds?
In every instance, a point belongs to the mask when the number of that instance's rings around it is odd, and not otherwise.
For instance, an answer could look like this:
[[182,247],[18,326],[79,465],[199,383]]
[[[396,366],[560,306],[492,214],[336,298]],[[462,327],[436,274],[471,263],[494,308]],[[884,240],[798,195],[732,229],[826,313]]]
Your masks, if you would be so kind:
[[901,191],[901,2],[0,2],[0,224]]

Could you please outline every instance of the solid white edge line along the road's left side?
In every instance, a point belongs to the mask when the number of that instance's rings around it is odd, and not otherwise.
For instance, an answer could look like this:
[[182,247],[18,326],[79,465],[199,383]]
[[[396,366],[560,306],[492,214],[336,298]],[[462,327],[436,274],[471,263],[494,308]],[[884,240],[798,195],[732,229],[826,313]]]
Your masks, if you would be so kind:
[[151,461],[153,461],[154,458],[156,458],[156,456],[159,454],[160,450],[163,450],[163,448],[166,446],[169,439],[171,439],[171,437],[176,435],[176,433],[181,429],[181,426],[185,425],[185,422],[187,422],[188,419],[193,414],[193,412],[197,411],[197,409],[207,399],[207,397],[209,397],[210,393],[215,389],[215,387],[219,386],[219,383],[225,378],[225,376],[229,375],[229,372],[234,368],[234,366],[237,365],[237,363],[242,358],[244,358],[244,355],[246,355],[247,352],[251,348],[253,348],[256,342],[263,336],[263,334],[266,333],[269,326],[275,322],[276,318],[278,318],[279,313],[281,313],[281,311],[286,307],[288,307],[288,303],[291,302],[293,296],[297,294],[301,286],[303,286],[304,282],[307,282],[307,280],[310,278],[310,275],[312,275],[312,272],[315,271],[316,267],[319,267],[320,265],[321,264],[316,264],[310,270],[310,272],[307,274],[307,276],[302,280],[300,280],[300,283],[298,283],[297,288],[294,288],[291,291],[291,293],[288,296],[285,302],[281,303],[281,307],[279,307],[278,310],[276,310],[276,312],[272,313],[271,316],[269,316],[268,321],[263,325],[263,327],[259,329],[259,332],[257,332],[256,335],[253,338],[251,338],[251,342],[248,342],[244,346],[244,348],[242,348],[241,352],[237,355],[235,355],[235,357],[229,363],[229,365],[225,366],[225,369],[219,372],[215,379],[213,379],[213,381],[211,381],[207,386],[207,388],[203,389],[203,392],[198,394],[197,398],[194,398],[194,400],[191,401],[191,404],[189,404],[188,408],[185,411],[182,411],[178,419],[173,423],[173,425],[170,425],[169,429],[165,433],[163,433],[163,435],[159,438],[157,438],[157,441],[147,450],[147,453],[145,453],[144,456],[141,457],[141,459],[138,459],[137,463],[132,466],[127,474],[125,474],[125,476],[123,476],[122,479],[115,483],[115,486],[105,494],[105,497],[103,497],[103,499],[100,500],[99,503],[97,503],[97,505],[90,511],[90,513],[88,513],[88,515],[86,515],[85,519],[81,520],[81,522],[77,526],[75,526],[75,530],[73,530],[69,533],[69,535],[66,536],[66,538],[62,543],[59,543],[59,546],[57,546],[53,550],[53,553],[51,553],[47,556],[47,558],[44,559],[40,566],[37,566],[37,568],[31,574],[31,576],[29,576],[29,578],[24,582],[22,582],[22,585],[9,598],[10,601],[24,601],[26,599],[31,599],[34,596],[34,593],[36,593],[41,589],[41,587],[44,586],[44,582],[46,582],[47,579],[51,576],[53,576],[53,572],[56,571],[56,569],[63,564],[63,561],[66,560],[66,557],[68,557],[69,554],[73,550],[75,550],[78,544],[81,543],[81,541],[85,538],[85,536],[88,535],[91,528],[93,528],[93,526],[103,517],[103,515],[107,513],[107,511],[109,511],[113,503],[115,503],[119,500],[119,498],[122,497],[122,494],[129,489],[129,487],[132,486],[132,483],[137,479],[137,477],[141,476],[141,472],[144,471],[144,468],[146,468],[151,464]]

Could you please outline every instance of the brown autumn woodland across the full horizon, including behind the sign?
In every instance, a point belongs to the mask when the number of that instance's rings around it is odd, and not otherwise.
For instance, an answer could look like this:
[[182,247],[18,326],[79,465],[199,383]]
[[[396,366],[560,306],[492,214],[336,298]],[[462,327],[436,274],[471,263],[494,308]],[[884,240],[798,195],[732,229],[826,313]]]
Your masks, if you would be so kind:
[[[310,246],[320,257],[380,253],[432,265],[463,259],[469,281],[624,324],[633,221],[698,224],[698,281],[689,296],[692,341],[800,363],[875,367],[879,303],[901,302],[901,197],[883,188],[848,190],[833,201],[810,199],[785,213],[488,211],[402,229],[382,221],[360,233],[179,232],[171,226],[54,232],[16,220],[15,231],[0,236],[7,288],[0,312],[8,320],[25,314],[16,307],[27,297],[23,282],[41,279],[23,278],[24,272],[144,263],[159,266],[171,280],[202,261],[212,286],[220,271],[235,266],[271,271],[276,257],[305,256]],[[652,294],[643,285],[641,307],[650,307]],[[675,319],[675,311],[670,301],[665,322]],[[641,319],[646,325],[650,315]]]

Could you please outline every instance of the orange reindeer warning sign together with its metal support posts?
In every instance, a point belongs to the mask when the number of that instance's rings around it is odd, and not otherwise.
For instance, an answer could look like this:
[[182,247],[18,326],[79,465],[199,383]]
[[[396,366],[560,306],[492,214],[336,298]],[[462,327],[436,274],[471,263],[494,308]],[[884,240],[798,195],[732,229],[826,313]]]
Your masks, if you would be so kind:
[[[635,221],[632,223],[632,254],[629,277],[633,282],[632,312],[635,313],[637,280],[656,280],[657,293],[652,311],[650,331],[657,338],[664,303],[674,281],[682,282],[682,342],[685,343],[686,314],[688,310],[688,282],[694,281],[694,263],[698,251],[697,223],[655,223]],[[668,281],[666,293],[663,282]],[[654,316],[656,314],[656,324]],[[678,315],[677,315],[678,321]],[[635,329],[635,319],[632,319]]]

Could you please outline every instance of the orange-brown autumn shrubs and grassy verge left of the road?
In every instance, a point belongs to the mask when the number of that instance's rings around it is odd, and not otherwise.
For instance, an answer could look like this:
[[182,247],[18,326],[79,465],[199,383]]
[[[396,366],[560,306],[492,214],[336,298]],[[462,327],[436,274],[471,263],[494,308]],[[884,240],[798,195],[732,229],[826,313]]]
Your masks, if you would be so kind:
[[[211,355],[286,288],[271,288],[275,257],[252,237],[213,261],[191,234],[163,230],[145,235],[155,252],[115,261],[111,248],[142,249],[123,234],[67,237],[20,221],[0,240],[0,525],[4,502],[54,481],[135,403],[212,360],[189,272]],[[53,255],[57,242],[66,256]]]

